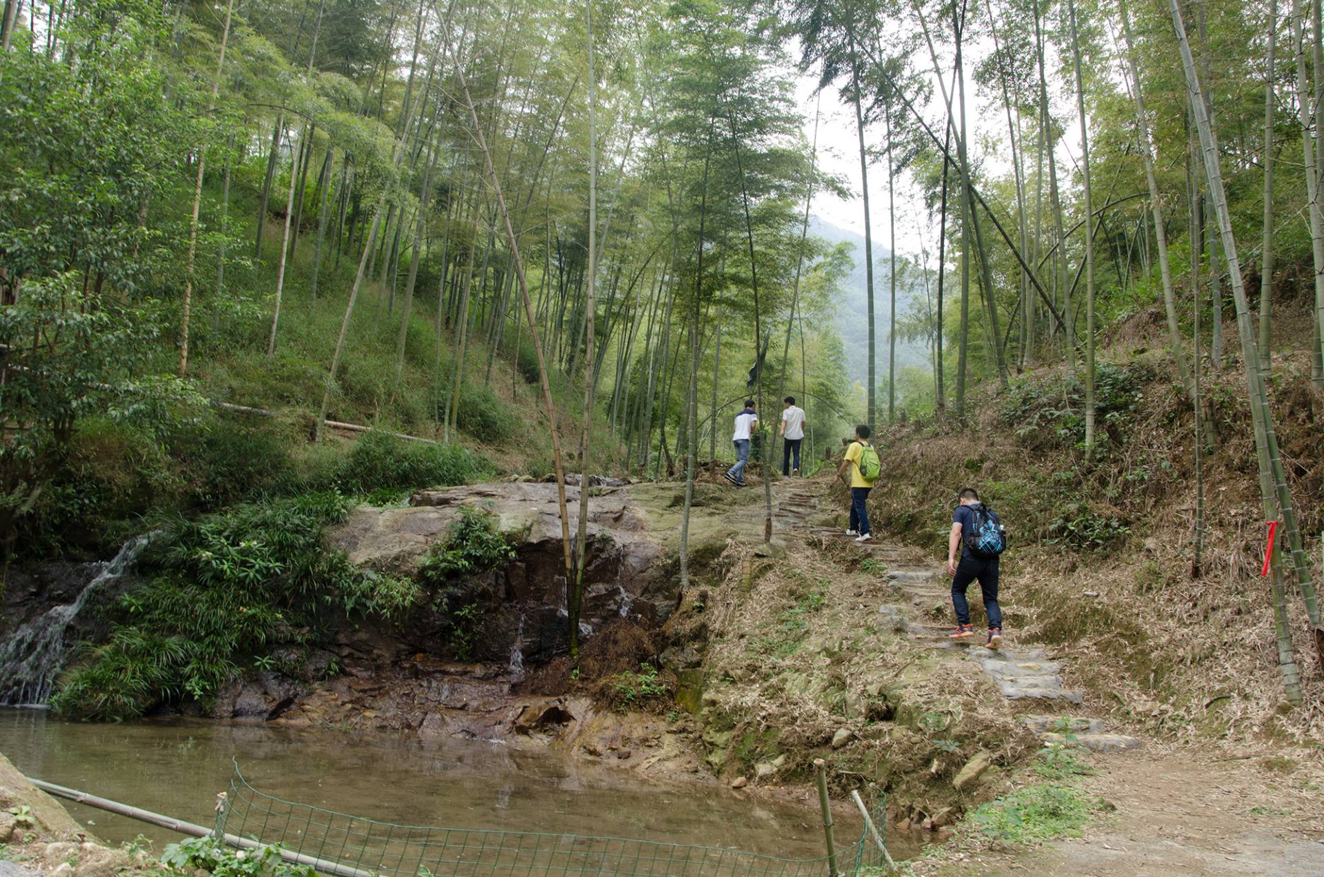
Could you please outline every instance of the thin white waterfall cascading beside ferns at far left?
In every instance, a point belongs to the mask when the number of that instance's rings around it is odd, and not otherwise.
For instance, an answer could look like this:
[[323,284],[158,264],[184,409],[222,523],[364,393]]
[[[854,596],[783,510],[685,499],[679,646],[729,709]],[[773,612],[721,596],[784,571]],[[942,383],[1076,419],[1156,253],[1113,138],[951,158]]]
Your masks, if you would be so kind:
[[65,631],[83,604],[107,582],[124,575],[147,537],[130,539],[105,562],[73,603],[52,607],[0,641],[0,703],[40,706],[50,697],[56,677],[69,657]]

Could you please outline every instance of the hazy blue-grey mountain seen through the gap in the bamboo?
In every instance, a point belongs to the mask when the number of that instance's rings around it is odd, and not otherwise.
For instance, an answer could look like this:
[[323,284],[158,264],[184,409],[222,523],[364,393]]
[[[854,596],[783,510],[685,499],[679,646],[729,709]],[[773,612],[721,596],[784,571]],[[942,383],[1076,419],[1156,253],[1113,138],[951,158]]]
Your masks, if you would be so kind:
[[[869,290],[865,273],[865,236],[849,229],[833,225],[817,216],[809,217],[809,233],[826,240],[830,244],[847,242],[855,249],[851,254],[855,261],[855,270],[845,282],[845,298],[837,309],[837,331],[846,348],[846,371],[851,380],[861,384],[869,378]],[[887,376],[887,333],[890,321],[890,265],[891,250],[879,245],[874,240],[874,344],[876,362],[874,364],[875,380],[882,383]],[[902,317],[908,310],[908,302],[914,291],[922,291],[914,286],[914,281],[907,282],[898,278],[896,284],[896,315]],[[896,367],[927,366],[928,352],[923,344],[911,342],[898,342]],[[880,403],[883,399],[880,399]]]

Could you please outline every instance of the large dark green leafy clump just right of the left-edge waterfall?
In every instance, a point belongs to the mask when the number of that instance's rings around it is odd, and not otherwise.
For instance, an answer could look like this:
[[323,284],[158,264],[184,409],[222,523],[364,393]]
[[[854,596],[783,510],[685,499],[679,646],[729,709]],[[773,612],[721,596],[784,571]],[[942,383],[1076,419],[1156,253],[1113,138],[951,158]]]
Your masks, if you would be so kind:
[[122,721],[185,697],[209,706],[254,657],[324,641],[343,615],[401,617],[416,583],[355,568],[323,544],[350,506],[308,494],[167,527],[139,564],[150,580],[110,607],[109,639],[83,649],[52,707]]

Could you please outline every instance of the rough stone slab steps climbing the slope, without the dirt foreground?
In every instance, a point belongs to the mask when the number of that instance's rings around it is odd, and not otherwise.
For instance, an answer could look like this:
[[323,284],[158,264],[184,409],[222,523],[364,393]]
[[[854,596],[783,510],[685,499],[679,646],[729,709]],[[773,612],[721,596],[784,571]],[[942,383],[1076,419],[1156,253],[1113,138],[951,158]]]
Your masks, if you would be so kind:
[[[894,631],[907,633],[925,648],[964,652],[964,657],[978,664],[1009,701],[1026,706],[1038,705],[1039,710],[1054,709],[1053,714],[1035,711],[1021,717],[1021,722],[1039,739],[1074,742],[1102,752],[1140,745],[1133,737],[1108,733],[1102,719],[1057,711],[1059,705],[1062,710],[1067,710],[1070,705],[1083,702],[1084,694],[1066,688],[1062,665],[1045,649],[1008,645],[988,649],[978,632],[969,640],[949,640],[947,635],[953,627],[951,590],[945,574],[935,564],[916,563],[914,551],[891,542],[854,542],[837,527],[814,526],[813,518],[820,514],[818,491],[804,482],[786,485],[782,481],[775,497],[777,510],[773,522],[779,530],[839,538],[851,548],[886,564],[883,578],[891,586],[895,599],[880,605],[878,612]],[[977,586],[972,590],[972,599],[977,600]]]

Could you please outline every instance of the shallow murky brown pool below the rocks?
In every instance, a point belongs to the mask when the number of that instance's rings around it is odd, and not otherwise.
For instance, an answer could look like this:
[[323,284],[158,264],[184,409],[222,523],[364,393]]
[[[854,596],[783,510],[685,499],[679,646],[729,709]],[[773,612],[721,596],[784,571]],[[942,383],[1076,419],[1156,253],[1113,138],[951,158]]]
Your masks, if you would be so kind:
[[[192,719],[85,725],[45,710],[0,709],[0,752],[29,776],[204,825],[216,792],[228,787],[233,756],[258,790],[384,821],[639,837],[797,858],[824,849],[808,795],[804,804],[755,801],[542,748]],[[144,835],[160,849],[179,840],[127,817],[66,807],[111,843]],[[861,828],[859,819],[838,816],[843,843]]]

